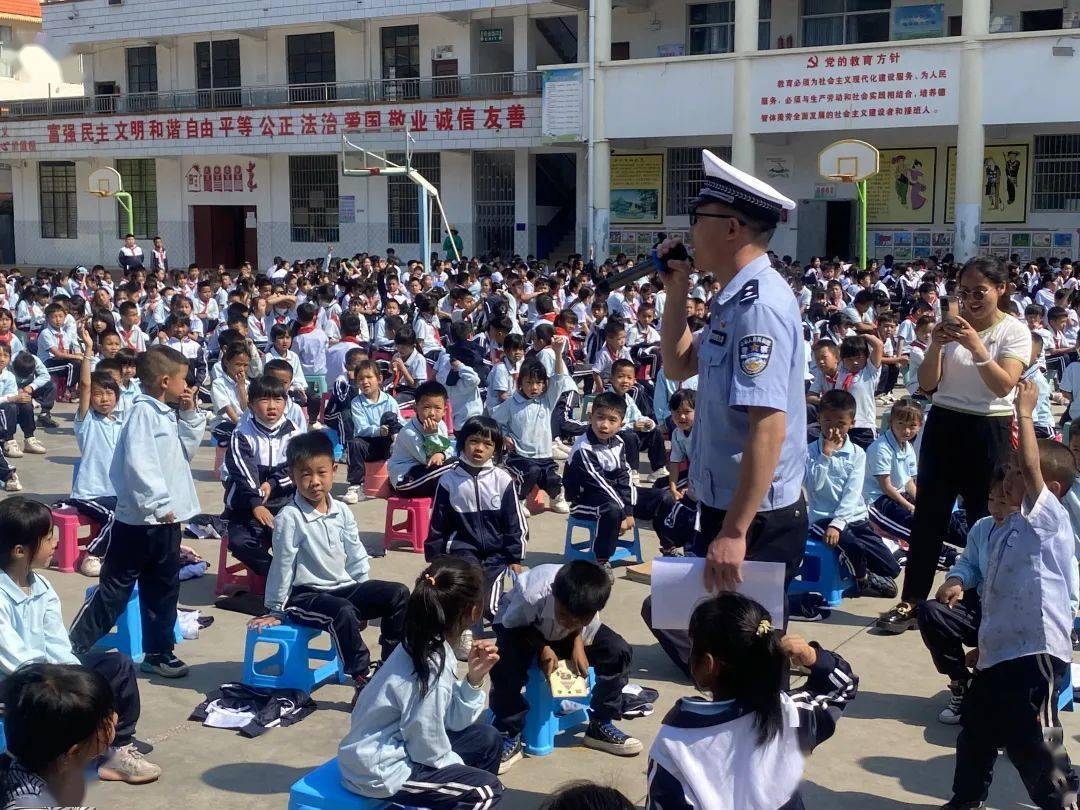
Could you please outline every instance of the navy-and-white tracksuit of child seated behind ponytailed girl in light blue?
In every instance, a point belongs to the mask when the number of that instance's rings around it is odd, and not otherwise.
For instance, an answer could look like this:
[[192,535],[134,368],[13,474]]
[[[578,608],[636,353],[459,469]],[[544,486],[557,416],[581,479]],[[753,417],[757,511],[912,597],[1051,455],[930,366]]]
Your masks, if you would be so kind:
[[529,529],[517,486],[502,467],[475,468],[459,460],[438,480],[424,558],[449,554],[484,570],[485,609],[492,619],[502,598],[507,567],[525,558]]

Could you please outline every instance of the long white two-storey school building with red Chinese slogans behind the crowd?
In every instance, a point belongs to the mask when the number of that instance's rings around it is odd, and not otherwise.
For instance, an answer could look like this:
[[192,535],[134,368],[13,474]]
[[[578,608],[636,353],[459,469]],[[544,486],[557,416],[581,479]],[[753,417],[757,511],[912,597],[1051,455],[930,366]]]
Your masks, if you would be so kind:
[[419,257],[416,187],[341,172],[359,165],[342,133],[400,162],[406,129],[470,255],[637,253],[685,233],[707,147],[799,202],[778,253],[850,256],[854,187],[818,174],[839,138],[880,149],[873,255],[1080,253],[1080,0],[55,0],[42,14],[84,95],[0,107],[21,264],[114,262],[126,216],[86,190],[103,166],[174,265],[266,267],[327,244]]

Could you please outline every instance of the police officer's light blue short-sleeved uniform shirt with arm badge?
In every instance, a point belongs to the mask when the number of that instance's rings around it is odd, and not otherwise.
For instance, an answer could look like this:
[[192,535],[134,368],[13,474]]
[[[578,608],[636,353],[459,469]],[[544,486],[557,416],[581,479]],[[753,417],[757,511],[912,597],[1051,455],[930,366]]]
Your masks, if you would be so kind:
[[743,267],[717,294],[698,345],[698,404],[692,432],[693,491],[729,509],[750,433],[750,407],[782,410],[784,441],[762,512],[796,503],[806,474],[802,320],[787,281],[767,255]]

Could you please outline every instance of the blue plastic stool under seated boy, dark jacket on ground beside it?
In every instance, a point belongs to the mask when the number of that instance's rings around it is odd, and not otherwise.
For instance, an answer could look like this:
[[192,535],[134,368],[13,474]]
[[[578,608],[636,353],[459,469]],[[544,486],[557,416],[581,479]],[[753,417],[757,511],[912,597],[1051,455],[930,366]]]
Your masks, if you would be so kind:
[[[276,624],[262,630],[248,630],[244,647],[244,676],[246,686],[268,689],[302,689],[309,694],[327,683],[341,683],[345,669],[341,657],[332,646],[328,650],[312,649],[311,643],[322,633],[314,627],[297,624]],[[255,645],[272,644],[278,650],[268,658],[255,660]],[[311,659],[323,664],[311,669]],[[276,674],[267,670],[276,667]]]

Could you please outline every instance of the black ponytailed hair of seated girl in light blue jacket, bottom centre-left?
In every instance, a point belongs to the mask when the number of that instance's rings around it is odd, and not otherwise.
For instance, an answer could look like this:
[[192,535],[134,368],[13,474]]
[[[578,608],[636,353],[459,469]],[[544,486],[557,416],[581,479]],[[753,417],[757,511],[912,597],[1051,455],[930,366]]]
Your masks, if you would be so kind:
[[473,608],[484,602],[484,575],[460,557],[438,557],[416,579],[405,607],[405,651],[426,696],[433,676],[446,663],[447,636],[456,636],[472,621]]

